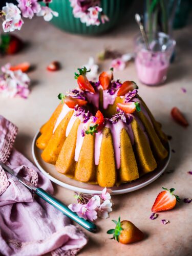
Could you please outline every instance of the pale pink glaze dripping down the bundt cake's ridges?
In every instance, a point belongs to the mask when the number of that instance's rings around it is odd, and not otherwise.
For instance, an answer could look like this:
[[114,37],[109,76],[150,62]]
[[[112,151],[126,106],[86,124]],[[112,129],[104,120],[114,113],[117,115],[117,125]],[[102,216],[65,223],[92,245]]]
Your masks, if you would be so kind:
[[[99,88],[99,89],[101,89],[101,88]],[[96,90],[95,94],[86,93],[86,96],[87,96],[88,102],[92,103],[95,106],[95,108],[98,109],[99,108],[99,91]],[[117,97],[117,91],[115,92],[114,95],[110,95],[108,93],[108,90],[103,90],[103,108],[107,109],[110,104],[114,104],[114,101],[115,101],[116,97]],[[126,97],[126,95],[124,97]],[[133,101],[135,101],[135,102],[138,101],[140,103],[141,111],[147,117],[147,119],[152,123],[150,117],[148,116],[147,111],[145,110],[144,106],[142,105],[142,102],[138,98],[134,98]],[[55,132],[57,126],[62,121],[62,119],[65,118],[67,113],[71,110],[72,109],[70,109],[66,104],[63,104],[62,111],[61,111],[61,113],[60,113],[60,115],[59,115],[59,117],[56,121],[53,133]],[[144,125],[142,124],[140,119],[135,115],[132,115],[132,116],[133,116],[133,118],[135,118],[137,120],[139,126],[141,127],[141,130],[144,132],[147,140],[149,141],[148,136],[147,136],[147,134],[145,132],[145,129],[144,129]],[[72,117],[70,118],[70,121],[69,121],[68,125],[67,125],[66,137],[68,137],[68,135],[69,135],[69,133],[70,133],[72,127],[73,127],[73,124],[74,124],[74,122],[77,118],[78,117],[75,116],[75,112],[74,112]],[[80,151],[81,151],[81,147],[82,147],[82,143],[83,143],[83,139],[84,139],[84,137],[81,134],[84,127],[86,127],[86,124],[81,122],[79,127],[78,127],[78,131],[77,131],[77,141],[76,141],[75,158],[74,158],[76,162],[79,159],[79,155],[80,155]],[[114,154],[115,154],[116,167],[117,167],[117,169],[119,169],[120,166],[121,166],[121,158],[120,158],[120,153],[121,153],[121,150],[120,150],[120,134],[121,134],[121,130],[122,129],[126,130],[127,134],[130,137],[131,143],[133,145],[134,144],[134,134],[133,134],[133,131],[132,131],[132,126],[131,126],[131,124],[127,125],[126,123],[122,122],[120,119],[117,121],[117,123],[113,124],[113,123],[109,122],[109,120],[107,118],[105,118],[105,127],[108,127],[111,130],[112,138],[113,138],[113,145],[114,145]],[[95,133],[95,165],[99,164],[101,142],[102,142],[102,131],[100,131],[98,133]]]

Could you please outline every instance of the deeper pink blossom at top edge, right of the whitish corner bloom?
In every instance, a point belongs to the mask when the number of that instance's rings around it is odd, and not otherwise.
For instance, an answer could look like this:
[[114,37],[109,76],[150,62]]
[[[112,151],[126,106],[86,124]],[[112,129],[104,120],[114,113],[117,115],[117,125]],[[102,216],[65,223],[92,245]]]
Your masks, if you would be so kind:
[[32,18],[34,13],[40,11],[40,5],[37,3],[37,0],[17,0],[18,8],[22,11],[22,15],[25,18]]

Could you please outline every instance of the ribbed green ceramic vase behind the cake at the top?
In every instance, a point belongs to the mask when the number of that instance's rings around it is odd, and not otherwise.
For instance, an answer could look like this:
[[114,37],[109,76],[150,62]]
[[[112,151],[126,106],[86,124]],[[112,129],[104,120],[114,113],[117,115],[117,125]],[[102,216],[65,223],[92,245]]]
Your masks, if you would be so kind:
[[89,26],[82,24],[79,18],[73,16],[73,9],[69,0],[53,0],[50,7],[59,13],[58,17],[54,17],[51,23],[65,31],[75,34],[96,35],[104,33],[115,25],[126,15],[133,0],[101,0],[103,12],[110,18],[109,22],[100,24],[99,26]]

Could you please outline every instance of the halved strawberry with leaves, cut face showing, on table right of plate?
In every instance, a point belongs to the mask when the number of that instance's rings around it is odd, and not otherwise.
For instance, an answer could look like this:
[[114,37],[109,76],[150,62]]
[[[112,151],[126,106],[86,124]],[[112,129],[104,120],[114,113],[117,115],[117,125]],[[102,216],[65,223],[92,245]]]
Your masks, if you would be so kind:
[[180,201],[180,198],[173,194],[175,188],[167,189],[163,187],[163,189],[164,191],[161,191],[155,200],[155,203],[152,207],[153,212],[173,209],[176,205],[176,202]]

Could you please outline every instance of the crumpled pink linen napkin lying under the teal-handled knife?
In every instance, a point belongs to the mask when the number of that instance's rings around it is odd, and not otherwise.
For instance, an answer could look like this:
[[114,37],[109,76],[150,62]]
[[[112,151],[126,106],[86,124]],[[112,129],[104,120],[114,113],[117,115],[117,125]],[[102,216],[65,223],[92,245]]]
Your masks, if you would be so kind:
[[[34,185],[53,193],[49,179],[13,148],[17,128],[0,116],[0,161]],[[85,234],[0,166],[0,254],[76,255],[87,244]]]

